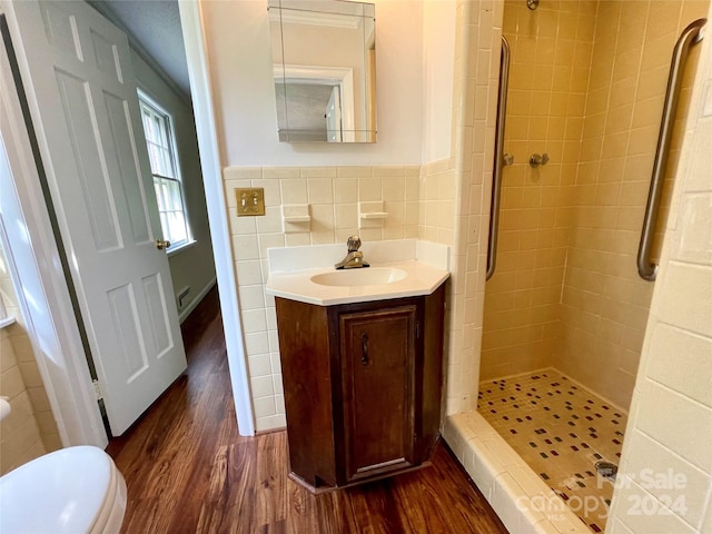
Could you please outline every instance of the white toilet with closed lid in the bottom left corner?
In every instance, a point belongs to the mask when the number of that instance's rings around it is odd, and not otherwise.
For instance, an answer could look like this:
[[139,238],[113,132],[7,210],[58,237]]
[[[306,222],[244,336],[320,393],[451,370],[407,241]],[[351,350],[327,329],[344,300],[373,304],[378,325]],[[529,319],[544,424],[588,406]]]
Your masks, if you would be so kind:
[[0,477],[0,532],[118,533],[126,482],[98,447],[68,447]]

